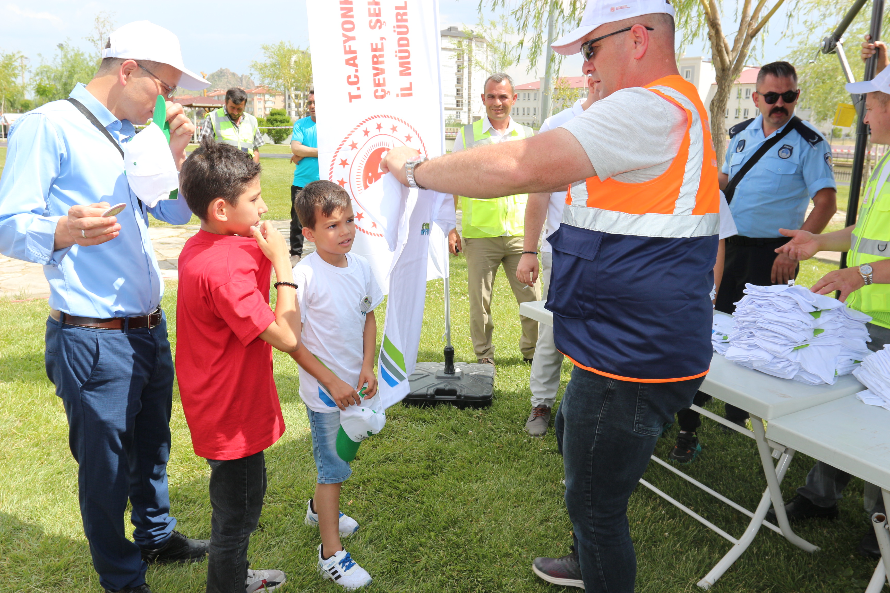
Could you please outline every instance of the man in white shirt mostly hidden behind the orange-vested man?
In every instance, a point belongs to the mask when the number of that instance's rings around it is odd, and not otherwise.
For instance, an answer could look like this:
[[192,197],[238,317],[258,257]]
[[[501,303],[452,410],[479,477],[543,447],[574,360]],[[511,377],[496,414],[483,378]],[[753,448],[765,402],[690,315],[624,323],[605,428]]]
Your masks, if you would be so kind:
[[[547,117],[538,133],[548,132],[579,116],[594,104],[599,97],[596,95],[596,84],[587,76],[587,97],[578,99],[570,108],[562,109],[555,116]],[[565,204],[565,192],[554,191],[550,194],[530,194],[525,205],[525,239],[522,243],[522,259],[516,268],[516,278],[522,284],[534,286],[538,281],[538,237],[544,226],[544,237],[541,241],[541,266],[544,278],[541,283],[542,298],[546,301],[547,289],[550,287],[550,269],[553,255],[547,237],[552,235],[562,220],[562,205]],[[546,217],[546,225],[545,225]],[[550,417],[556,403],[556,391],[559,390],[559,377],[562,370],[562,352],[554,344],[554,331],[550,325],[543,324],[538,329],[538,344],[535,346],[535,359],[531,363],[531,413],[525,422],[525,429],[531,437],[544,437],[550,425]]]

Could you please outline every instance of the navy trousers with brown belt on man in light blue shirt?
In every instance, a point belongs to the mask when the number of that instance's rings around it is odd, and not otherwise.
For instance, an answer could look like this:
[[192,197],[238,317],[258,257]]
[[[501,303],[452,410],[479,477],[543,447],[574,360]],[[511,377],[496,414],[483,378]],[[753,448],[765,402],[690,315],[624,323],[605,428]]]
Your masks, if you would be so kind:
[[[46,320],[46,374],[68,416],[69,447],[93,567],[111,591],[138,587],[140,547],[170,538],[166,463],[174,366],[166,316],[152,329],[101,330]],[[126,502],[134,541],[124,526]]]

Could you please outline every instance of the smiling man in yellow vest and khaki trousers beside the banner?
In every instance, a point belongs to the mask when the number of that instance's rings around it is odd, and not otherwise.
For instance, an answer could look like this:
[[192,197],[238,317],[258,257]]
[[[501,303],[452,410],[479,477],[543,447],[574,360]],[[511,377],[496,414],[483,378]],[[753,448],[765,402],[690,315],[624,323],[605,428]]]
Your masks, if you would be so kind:
[[[530,138],[535,133],[530,127],[517,124],[510,117],[510,110],[516,102],[516,92],[510,76],[493,74],[486,79],[482,88],[486,117],[460,129],[452,154],[467,148]],[[466,256],[470,338],[473,340],[476,359],[481,363],[495,364],[495,347],[491,343],[491,332],[494,329],[491,319],[491,288],[498,268],[504,266],[516,302],[538,301],[541,296],[538,284],[528,286],[516,279],[516,266],[522,259],[525,203],[528,199],[528,194],[502,196],[493,200],[454,195],[455,208],[460,204],[463,212],[461,228],[464,240],[462,243],[457,230],[452,230],[449,233],[449,250],[457,253],[463,247]],[[538,322],[522,316],[520,320],[522,338],[519,349],[525,362],[530,363],[535,356],[535,344],[538,342]]]

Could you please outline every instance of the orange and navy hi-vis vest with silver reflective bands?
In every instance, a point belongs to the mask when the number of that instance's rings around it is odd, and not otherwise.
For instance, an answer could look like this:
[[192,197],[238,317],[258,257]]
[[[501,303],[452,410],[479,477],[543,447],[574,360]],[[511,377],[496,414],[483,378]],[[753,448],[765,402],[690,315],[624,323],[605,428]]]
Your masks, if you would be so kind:
[[[569,188],[548,240],[554,341],[583,369],[622,381],[708,373],[720,193],[708,115],[695,87],[646,87],[686,112],[667,171],[643,183],[591,177]],[[653,139],[654,140],[654,139]]]

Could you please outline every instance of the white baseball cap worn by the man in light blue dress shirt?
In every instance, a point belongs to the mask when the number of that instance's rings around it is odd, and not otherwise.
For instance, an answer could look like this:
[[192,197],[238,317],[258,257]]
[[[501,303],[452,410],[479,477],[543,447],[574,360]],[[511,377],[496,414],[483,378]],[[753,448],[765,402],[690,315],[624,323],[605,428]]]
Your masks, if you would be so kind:
[[200,91],[210,86],[209,82],[182,64],[179,37],[150,20],[134,20],[125,24],[109,36],[109,41],[109,47],[102,50],[102,58],[157,61],[182,71],[177,86],[183,89]]

